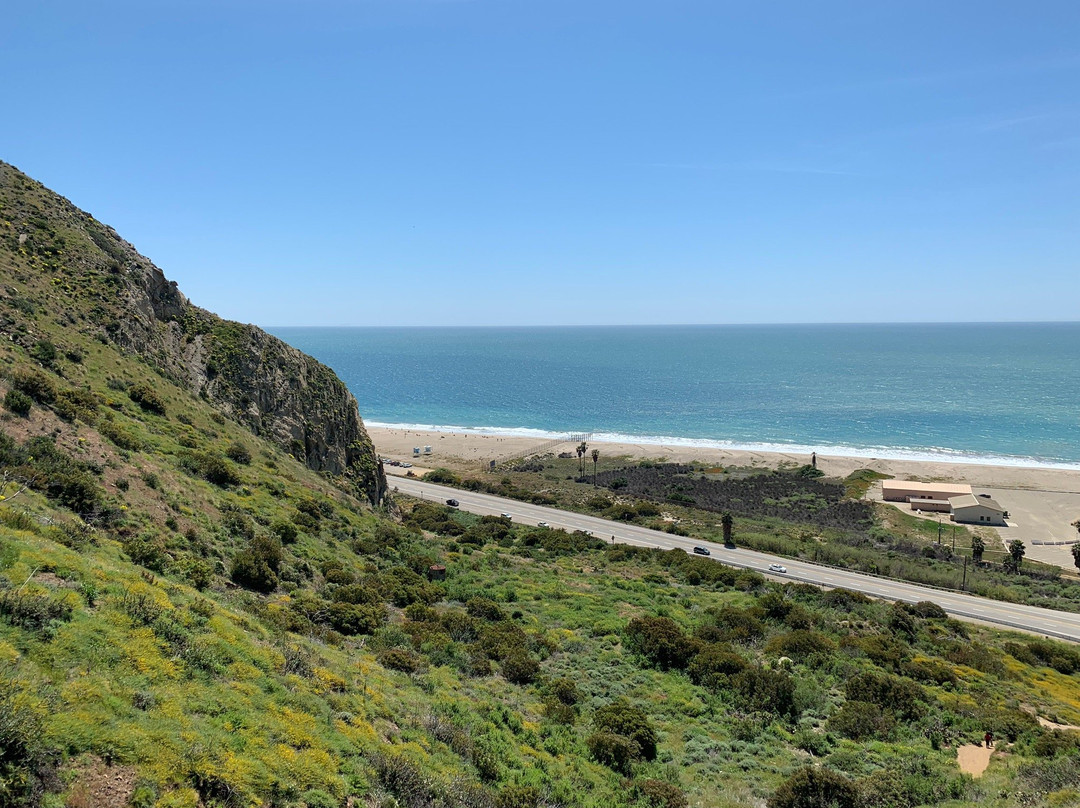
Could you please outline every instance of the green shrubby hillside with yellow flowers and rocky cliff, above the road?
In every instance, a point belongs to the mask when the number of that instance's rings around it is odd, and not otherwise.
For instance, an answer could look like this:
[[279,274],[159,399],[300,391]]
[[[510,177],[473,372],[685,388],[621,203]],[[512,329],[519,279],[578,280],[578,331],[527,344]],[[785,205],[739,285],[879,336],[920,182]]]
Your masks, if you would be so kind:
[[0,806],[1080,802],[1076,648],[388,501],[328,368],[8,165],[0,328]]

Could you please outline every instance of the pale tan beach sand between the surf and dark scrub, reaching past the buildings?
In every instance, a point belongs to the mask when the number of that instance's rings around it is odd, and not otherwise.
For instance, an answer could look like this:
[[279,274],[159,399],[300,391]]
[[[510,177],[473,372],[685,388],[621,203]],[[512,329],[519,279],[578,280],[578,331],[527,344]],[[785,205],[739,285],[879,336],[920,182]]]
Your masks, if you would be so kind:
[[[458,470],[472,467],[480,471],[490,460],[501,461],[521,456],[551,443],[543,437],[482,435],[472,432],[430,432],[386,427],[368,427],[367,431],[381,456],[414,462],[418,467],[418,474],[438,466]],[[414,457],[413,449],[419,447],[422,453],[424,446],[431,446],[432,454]],[[603,459],[665,459],[670,462],[700,461],[767,469],[810,462],[807,454],[782,452],[600,441],[590,441],[589,447],[590,450],[598,448]],[[565,443],[548,450],[572,452],[573,448],[572,443]],[[1003,541],[1018,538],[1027,546],[1027,557],[1057,564],[1065,569],[1074,567],[1069,547],[1034,542],[1075,541],[1080,538],[1070,524],[1080,519],[1080,470],[838,455],[818,455],[818,468],[828,476],[838,477],[845,477],[856,469],[873,469],[900,480],[969,483],[976,493],[994,496],[1010,512],[1009,521],[1014,526],[998,530]],[[391,467],[388,470],[397,469]]]

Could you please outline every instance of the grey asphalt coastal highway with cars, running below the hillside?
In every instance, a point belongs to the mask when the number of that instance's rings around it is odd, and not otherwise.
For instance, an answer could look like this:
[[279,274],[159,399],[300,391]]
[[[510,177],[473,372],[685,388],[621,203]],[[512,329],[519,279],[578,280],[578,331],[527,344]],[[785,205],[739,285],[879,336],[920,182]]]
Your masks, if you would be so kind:
[[[561,511],[556,508],[518,502],[515,499],[504,499],[503,497],[496,497],[490,494],[458,490],[457,488],[435,485],[434,483],[424,483],[409,477],[394,476],[390,477],[388,482],[392,489],[396,488],[400,493],[413,497],[430,499],[440,503],[445,503],[447,499],[456,499],[460,503],[458,507],[461,510],[471,513],[495,516],[501,513],[509,513],[514,522],[523,525],[536,525],[539,522],[546,522],[556,528],[590,530],[597,538],[606,540],[610,540],[613,537],[615,541],[623,544],[656,547],[664,550],[684,550],[686,552],[692,552],[693,548],[698,546],[706,547],[712,553],[710,557],[714,561],[732,567],[754,569],[773,578],[815,583],[829,588],[850,589],[872,597],[880,597],[889,601],[903,601],[905,603],[933,601],[953,617],[1020,629],[1021,631],[1034,632],[1059,639],[1080,642],[1080,614],[1054,611],[1053,609],[1004,603],[1002,601],[990,601],[985,597],[975,597],[974,595],[967,595],[960,592],[948,592],[933,589],[932,587],[920,587],[916,583],[875,578],[864,573],[852,573],[846,569],[824,567],[804,561],[781,558],[753,550],[728,549],[723,544],[715,544],[701,539],[673,536],[672,534],[652,530],[647,527],[611,522],[599,516]],[[785,574],[770,573],[770,564],[781,564],[786,567],[787,571]]]

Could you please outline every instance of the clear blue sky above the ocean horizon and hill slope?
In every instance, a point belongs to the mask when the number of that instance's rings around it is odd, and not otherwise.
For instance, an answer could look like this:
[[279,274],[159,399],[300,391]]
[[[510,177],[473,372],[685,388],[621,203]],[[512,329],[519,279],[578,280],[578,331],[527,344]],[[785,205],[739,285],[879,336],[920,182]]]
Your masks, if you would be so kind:
[[1075,0],[4,17],[0,159],[232,319],[1078,319]]

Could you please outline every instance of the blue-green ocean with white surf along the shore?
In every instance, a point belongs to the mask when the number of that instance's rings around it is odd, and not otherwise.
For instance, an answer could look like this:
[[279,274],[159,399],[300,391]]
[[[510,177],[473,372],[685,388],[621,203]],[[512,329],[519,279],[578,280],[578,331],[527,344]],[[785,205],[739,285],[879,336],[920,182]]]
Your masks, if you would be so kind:
[[370,426],[1080,468],[1080,323],[270,331]]

